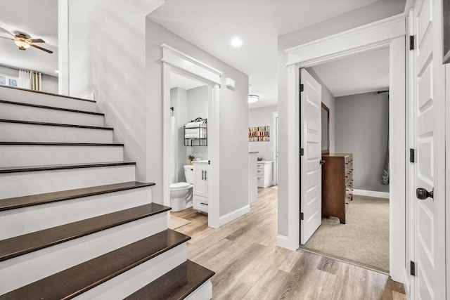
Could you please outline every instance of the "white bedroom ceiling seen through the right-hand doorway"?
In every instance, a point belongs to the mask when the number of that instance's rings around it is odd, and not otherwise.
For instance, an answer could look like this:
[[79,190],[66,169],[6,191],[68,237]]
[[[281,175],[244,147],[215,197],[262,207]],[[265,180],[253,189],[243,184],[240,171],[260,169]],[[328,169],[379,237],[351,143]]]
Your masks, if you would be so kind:
[[335,97],[389,88],[389,48],[313,67]]

